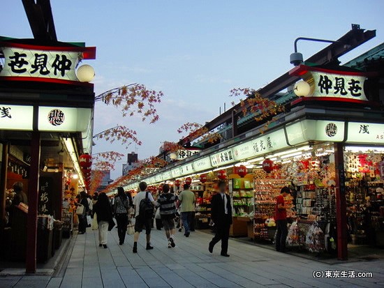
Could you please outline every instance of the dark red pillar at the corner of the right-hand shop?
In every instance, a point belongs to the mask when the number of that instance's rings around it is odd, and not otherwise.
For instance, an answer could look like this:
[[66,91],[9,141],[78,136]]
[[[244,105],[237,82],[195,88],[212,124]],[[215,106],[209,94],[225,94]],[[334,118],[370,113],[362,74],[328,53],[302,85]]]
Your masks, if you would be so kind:
[[337,218],[337,258],[348,259],[346,188],[344,174],[344,145],[334,144],[334,165],[336,171],[336,218]]

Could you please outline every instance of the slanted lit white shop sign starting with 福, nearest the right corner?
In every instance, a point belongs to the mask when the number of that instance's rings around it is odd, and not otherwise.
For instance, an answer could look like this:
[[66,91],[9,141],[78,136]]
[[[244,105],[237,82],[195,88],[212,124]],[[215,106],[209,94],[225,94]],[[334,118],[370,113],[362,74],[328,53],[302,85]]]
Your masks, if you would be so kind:
[[241,161],[285,147],[288,147],[288,144],[286,142],[284,130],[281,129],[272,133],[260,135],[260,137],[257,137],[256,139],[235,146],[232,150],[235,160]]

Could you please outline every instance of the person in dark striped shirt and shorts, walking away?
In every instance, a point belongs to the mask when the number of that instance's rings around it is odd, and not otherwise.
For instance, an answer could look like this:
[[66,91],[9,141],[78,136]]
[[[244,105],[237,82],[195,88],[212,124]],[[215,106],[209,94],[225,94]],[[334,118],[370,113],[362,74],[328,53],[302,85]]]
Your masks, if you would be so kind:
[[161,221],[163,222],[165,235],[168,239],[168,248],[175,248],[175,217],[177,197],[170,192],[170,185],[163,185],[163,194],[157,199],[158,209],[160,209]]

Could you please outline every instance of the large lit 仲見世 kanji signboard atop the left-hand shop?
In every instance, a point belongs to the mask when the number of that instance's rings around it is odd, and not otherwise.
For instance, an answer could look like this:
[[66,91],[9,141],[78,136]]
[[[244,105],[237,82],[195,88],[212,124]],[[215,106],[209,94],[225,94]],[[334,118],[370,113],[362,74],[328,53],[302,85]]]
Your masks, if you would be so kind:
[[0,76],[40,77],[78,81],[75,68],[82,56],[81,52],[2,47],[5,57]]

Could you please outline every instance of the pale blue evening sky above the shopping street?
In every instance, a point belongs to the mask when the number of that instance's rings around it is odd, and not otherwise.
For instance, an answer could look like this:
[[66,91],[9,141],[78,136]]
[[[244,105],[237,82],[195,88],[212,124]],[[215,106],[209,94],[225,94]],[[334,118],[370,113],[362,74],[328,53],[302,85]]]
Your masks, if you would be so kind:
[[[383,42],[384,1],[127,1],[51,0],[57,36],[97,47],[96,93],[138,82],[165,93],[154,125],[122,118],[96,104],[95,133],[117,124],[138,131],[140,158],[175,141],[187,121],[205,123],[219,114],[234,87],[258,89],[290,70],[299,36],[335,40],[351,23],[377,29],[377,36],[344,56],[348,61]],[[1,35],[31,38],[22,1],[3,0]],[[325,47],[299,43],[304,59]],[[128,151],[98,141],[94,151]],[[121,163],[112,173],[121,174]]]

